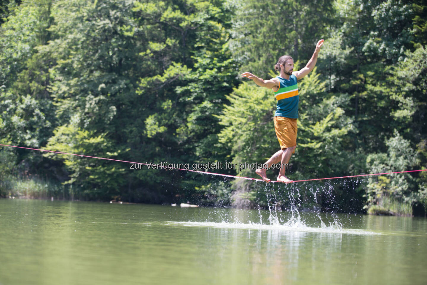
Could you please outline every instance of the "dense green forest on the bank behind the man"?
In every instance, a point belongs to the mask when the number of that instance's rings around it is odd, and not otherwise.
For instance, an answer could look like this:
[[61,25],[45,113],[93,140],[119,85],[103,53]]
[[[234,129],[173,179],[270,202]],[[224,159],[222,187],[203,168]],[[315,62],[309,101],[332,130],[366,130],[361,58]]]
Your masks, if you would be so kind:
[[[159,164],[261,164],[298,82],[293,180],[427,169],[422,0],[1,0],[0,144]],[[427,171],[290,185],[0,146],[0,197],[422,215]],[[203,169],[200,169],[203,170]],[[216,173],[259,178],[251,167]],[[267,171],[274,179],[278,171]]]

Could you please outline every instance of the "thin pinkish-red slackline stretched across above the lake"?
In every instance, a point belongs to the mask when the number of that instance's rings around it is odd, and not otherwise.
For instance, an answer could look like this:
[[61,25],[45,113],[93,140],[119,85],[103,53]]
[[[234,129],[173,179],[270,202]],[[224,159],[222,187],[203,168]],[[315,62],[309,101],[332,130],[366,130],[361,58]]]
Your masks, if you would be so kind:
[[[4,147],[17,147],[14,145],[8,145],[8,144],[0,144]],[[97,157],[97,156],[85,156],[82,154],[75,154],[75,153],[62,153],[60,151],[53,151],[53,150],[39,150],[37,148],[30,148],[30,147],[17,147],[17,148],[23,148],[26,150],[38,150],[38,151],[45,151],[49,153],[60,153],[60,154],[67,154],[70,156],[80,156],[80,157],[89,157],[92,159],[105,159],[105,160],[111,160],[116,162],[127,162],[127,163],[135,163],[135,164],[142,164],[147,165],[146,163],[142,162],[131,162],[126,160],[119,160],[119,159],[106,159],[104,157]],[[154,164],[153,164],[154,165]],[[157,167],[168,169],[168,167],[164,167],[161,165],[157,165]],[[184,171],[190,171],[190,172],[196,172],[196,173],[202,173],[202,174],[210,174],[210,175],[217,175],[217,176],[224,176],[224,177],[231,177],[231,178],[241,178],[241,179],[248,179],[248,180],[256,180],[256,181],[264,181],[263,179],[258,178],[251,178],[251,177],[243,177],[243,176],[235,176],[235,175],[229,175],[229,174],[221,174],[221,173],[214,173],[214,172],[207,172],[207,171],[200,171],[200,170],[192,170],[192,169],[183,169],[183,168],[173,168],[176,170],[184,170]],[[407,172],[419,172],[419,171],[427,171],[427,169],[421,169],[421,170],[407,170],[407,171],[397,171],[397,172],[385,172],[385,173],[373,173],[373,174],[360,174],[360,175],[351,175],[351,176],[339,176],[339,177],[328,177],[328,178],[316,178],[316,179],[306,179],[306,180],[294,180],[293,182],[304,182],[304,181],[314,181],[314,180],[327,180],[327,179],[339,179],[339,178],[350,178],[350,177],[361,177],[361,176],[372,176],[372,175],[382,175],[382,174],[395,174],[395,173],[407,173]],[[271,180],[270,182],[278,182],[275,180]]]

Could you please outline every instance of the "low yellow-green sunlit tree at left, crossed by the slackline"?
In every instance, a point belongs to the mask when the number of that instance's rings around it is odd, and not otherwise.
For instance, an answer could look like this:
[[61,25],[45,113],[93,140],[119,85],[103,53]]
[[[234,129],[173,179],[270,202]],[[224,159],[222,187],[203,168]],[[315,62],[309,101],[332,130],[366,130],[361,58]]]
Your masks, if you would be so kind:
[[[73,125],[60,126],[49,138],[45,149],[87,156],[117,157],[119,152],[104,153],[112,145],[105,137],[105,134],[94,135]],[[80,199],[109,200],[120,196],[120,188],[126,185],[123,175],[126,166],[123,163],[50,152],[44,156],[64,162],[70,173],[70,179],[64,183],[73,184],[78,189],[75,192]]]

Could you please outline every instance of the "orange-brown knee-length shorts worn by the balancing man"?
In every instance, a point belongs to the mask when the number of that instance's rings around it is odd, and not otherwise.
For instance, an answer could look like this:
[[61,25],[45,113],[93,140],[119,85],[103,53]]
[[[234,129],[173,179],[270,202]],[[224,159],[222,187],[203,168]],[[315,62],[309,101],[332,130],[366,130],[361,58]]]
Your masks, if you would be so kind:
[[[296,121],[297,119],[287,117],[274,117],[274,129],[282,150],[296,146],[296,134],[298,132]],[[293,152],[295,153],[295,150]]]

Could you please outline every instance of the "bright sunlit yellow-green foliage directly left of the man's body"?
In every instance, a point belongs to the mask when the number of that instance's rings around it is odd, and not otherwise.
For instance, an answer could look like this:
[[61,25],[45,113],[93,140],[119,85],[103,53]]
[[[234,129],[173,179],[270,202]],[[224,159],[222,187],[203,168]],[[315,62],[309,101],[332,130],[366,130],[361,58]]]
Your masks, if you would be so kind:
[[[219,123],[225,126],[219,133],[219,143],[231,148],[234,163],[263,163],[279,146],[273,125],[274,94],[245,82],[227,99],[230,105],[224,106],[218,116]],[[246,169],[241,174],[253,175],[252,172]]]

